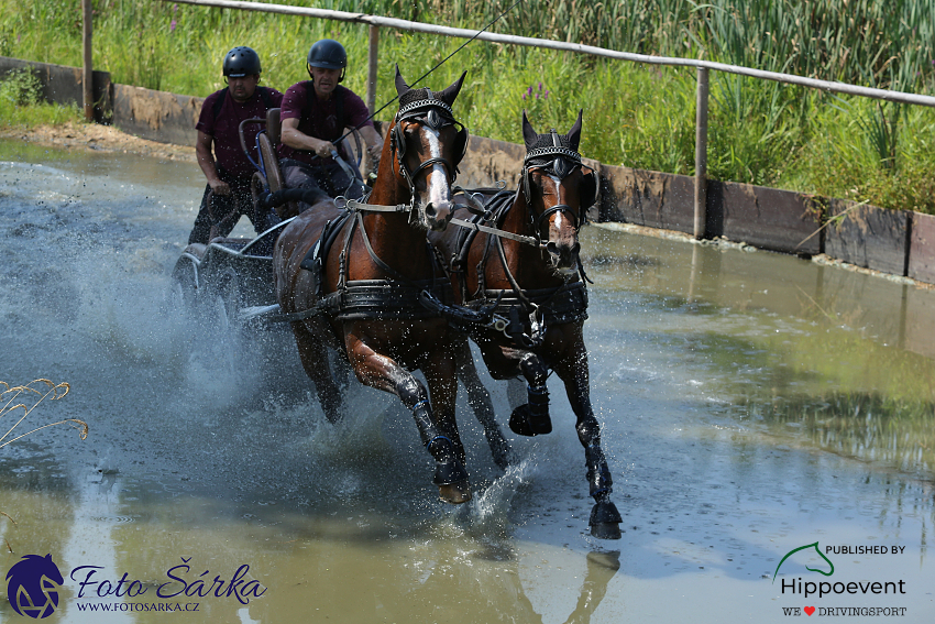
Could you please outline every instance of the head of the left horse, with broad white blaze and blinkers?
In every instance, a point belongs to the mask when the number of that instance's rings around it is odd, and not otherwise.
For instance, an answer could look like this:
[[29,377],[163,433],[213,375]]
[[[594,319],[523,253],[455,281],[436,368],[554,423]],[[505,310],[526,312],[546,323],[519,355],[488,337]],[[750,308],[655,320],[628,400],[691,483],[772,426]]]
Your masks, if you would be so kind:
[[443,91],[414,89],[396,67],[399,111],[389,131],[393,172],[397,185],[408,188],[410,223],[441,231],[452,217],[451,185],[468,149],[468,129],[451,110],[464,76]]

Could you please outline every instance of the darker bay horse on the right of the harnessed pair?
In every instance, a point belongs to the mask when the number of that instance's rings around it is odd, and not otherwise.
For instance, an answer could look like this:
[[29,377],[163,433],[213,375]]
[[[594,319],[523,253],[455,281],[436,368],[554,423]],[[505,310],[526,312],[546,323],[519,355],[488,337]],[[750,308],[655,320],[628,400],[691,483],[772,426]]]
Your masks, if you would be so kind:
[[[579,112],[566,134],[556,130],[539,134],[524,111],[520,187],[468,191],[468,206],[460,205],[459,196],[452,222],[463,228],[430,232],[429,239],[449,274],[457,304],[437,302],[437,307],[470,333],[491,376],[521,375],[528,384],[527,403],[513,410],[510,429],[522,436],[550,433],[546,380],[554,371],[564,383],[595,500],[591,533],[616,539],[623,521],[610,501],[613,479],[591,406],[583,337],[587,291],[578,233],[584,209],[596,200],[597,179],[595,172],[583,171],[578,152],[581,123]],[[462,379],[471,369],[461,366]]]

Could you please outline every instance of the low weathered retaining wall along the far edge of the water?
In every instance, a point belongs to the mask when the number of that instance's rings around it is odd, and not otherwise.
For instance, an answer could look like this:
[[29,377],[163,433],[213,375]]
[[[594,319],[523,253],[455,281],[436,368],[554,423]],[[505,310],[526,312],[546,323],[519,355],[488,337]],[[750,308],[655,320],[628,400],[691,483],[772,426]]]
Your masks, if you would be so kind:
[[[0,77],[24,67],[40,79],[46,100],[80,105],[79,68],[0,57]],[[152,141],[195,144],[204,98],[114,84],[107,72],[95,72],[94,80],[99,121]],[[490,186],[503,179],[515,187],[524,155],[522,145],[471,136],[459,182]],[[591,220],[692,233],[694,178],[586,163],[601,176]],[[935,217],[931,215],[711,180],[705,231],[712,239],[809,258],[823,255],[935,284]]]

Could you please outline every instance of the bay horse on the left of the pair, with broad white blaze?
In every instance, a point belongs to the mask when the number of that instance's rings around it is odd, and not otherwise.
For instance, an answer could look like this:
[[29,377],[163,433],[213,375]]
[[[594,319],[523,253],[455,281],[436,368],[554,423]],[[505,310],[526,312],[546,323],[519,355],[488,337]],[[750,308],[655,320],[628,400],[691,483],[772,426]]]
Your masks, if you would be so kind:
[[[399,110],[370,197],[343,208],[331,199],[314,205],[283,230],[273,253],[279,309],[327,418],[342,415],[331,347],[346,355],[358,380],[397,395],[413,412],[436,461],[433,483],[453,504],[471,499],[454,420],[452,346],[463,338],[421,306],[419,294],[450,291],[426,231],[443,230],[452,216],[451,185],[468,130],[451,107],[465,75],[436,92],[410,88],[397,66]],[[417,369],[428,392],[411,373]]]

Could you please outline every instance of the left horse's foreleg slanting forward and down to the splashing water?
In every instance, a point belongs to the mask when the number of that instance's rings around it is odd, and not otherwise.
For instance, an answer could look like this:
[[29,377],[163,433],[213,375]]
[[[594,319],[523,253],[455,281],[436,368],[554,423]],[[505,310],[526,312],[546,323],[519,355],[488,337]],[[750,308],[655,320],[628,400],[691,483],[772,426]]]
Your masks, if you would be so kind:
[[[439,496],[446,503],[460,504],[471,500],[471,486],[468,483],[468,471],[464,470],[464,448],[458,438],[458,427],[450,423],[440,423],[432,414],[429,403],[429,393],[426,386],[417,380],[409,371],[397,364],[392,359],[376,353],[365,342],[356,339],[352,333],[348,335],[348,354],[351,357],[351,365],[358,380],[371,387],[389,392],[399,397],[408,409],[413,410],[419,437],[429,455],[436,461],[435,477],[432,483],[438,485]],[[427,373],[429,376],[429,373]],[[450,404],[450,416],[447,420],[454,422],[454,398],[458,390],[454,371],[451,370],[451,388],[448,394],[451,397],[436,397],[441,403]],[[440,388],[444,390],[444,388]],[[441,392],[439,392],[441,394]],[[443,414],[443,412],[442,412]],[[444,427],[448,425],[448,427]]]

